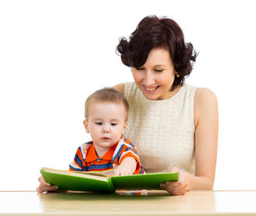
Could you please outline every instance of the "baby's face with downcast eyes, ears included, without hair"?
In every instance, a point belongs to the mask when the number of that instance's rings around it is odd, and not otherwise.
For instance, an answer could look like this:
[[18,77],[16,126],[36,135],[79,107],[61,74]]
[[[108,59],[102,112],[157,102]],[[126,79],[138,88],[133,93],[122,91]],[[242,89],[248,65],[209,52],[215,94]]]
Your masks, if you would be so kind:
[[85,127],[96,150],[108,150],[118,142],[127,125],[126,114],[122,103],[90,103]]

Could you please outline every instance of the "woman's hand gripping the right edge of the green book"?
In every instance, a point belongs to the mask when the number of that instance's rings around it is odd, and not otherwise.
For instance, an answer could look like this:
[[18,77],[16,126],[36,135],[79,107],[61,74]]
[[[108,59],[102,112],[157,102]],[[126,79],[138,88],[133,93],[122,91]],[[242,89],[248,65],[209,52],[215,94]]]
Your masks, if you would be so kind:
[[187,193],[189,191],[189,182],[186,172],[179,170],[177,167],[173,167],[170,173],[178,173],[178,181],[161,183],[160,187],[173,195],[184,195]]

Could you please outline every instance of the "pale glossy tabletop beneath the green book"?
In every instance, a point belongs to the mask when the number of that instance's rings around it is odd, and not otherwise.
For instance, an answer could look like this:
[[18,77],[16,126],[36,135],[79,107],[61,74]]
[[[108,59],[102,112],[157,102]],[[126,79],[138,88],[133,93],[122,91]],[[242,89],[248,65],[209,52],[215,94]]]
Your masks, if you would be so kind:
[[256,191],[0,192],[0,215],[256,215]]

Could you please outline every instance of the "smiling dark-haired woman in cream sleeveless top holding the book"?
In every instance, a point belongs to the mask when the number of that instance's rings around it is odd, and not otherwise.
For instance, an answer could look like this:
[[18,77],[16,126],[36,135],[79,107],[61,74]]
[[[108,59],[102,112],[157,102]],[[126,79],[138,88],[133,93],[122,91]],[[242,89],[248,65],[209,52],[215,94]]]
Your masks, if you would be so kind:
[[[178,182],[160,184],[171,194],[212,189],[217,100],[209,89],[184,82],[197,58],[192,44],[173,20],[147,16],[117,51],[134,79],[114,86],[130,106],[124,137],[133,138],[146,173],[178,172]],[[56,189],[39,180],[39,192]]]

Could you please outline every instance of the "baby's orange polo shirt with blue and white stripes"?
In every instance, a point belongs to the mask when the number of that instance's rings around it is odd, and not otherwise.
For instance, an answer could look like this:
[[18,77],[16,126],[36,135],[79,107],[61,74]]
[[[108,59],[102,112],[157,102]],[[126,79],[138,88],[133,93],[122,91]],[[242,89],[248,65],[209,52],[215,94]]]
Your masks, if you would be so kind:
[[114,167],[120,165],[125,157],[133,157],[137,161],[134,174],[144,173],[137,148],[129,139],[120,139],[101,158],[96,155],[93,141],[84,143],[78,148],[74,160],[69,165],[69,170],[98,171],[105,173],[105,175],[114,175]]

